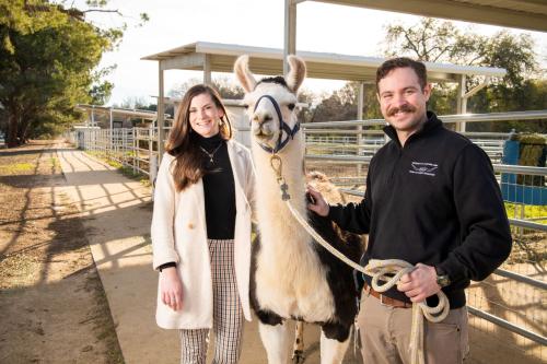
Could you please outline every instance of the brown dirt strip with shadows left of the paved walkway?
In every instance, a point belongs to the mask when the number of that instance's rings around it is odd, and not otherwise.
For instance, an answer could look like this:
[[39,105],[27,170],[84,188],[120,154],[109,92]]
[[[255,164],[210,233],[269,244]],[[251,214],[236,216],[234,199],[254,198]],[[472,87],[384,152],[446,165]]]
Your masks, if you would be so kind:
[[0,362],[121,363],[56,146],[0,150]]

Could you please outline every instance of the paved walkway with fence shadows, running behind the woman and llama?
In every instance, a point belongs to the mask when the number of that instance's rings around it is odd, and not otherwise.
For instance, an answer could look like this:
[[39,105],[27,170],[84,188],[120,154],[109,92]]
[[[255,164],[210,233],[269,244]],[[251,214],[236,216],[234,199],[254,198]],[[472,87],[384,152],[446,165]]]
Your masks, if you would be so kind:
[[[177,334],[154,320],[158,273],[150,246],[150,188],[81,151],[63,149],[57,155],[67,179],[60,192],[82,212],[126,363],[177,363]],[[245,327],[242,364],[266,363],[256,322]],[[305,363],[318,363],[318,330],[306,326],[305,332]],[[348,351],[347,356],[353,355]]]

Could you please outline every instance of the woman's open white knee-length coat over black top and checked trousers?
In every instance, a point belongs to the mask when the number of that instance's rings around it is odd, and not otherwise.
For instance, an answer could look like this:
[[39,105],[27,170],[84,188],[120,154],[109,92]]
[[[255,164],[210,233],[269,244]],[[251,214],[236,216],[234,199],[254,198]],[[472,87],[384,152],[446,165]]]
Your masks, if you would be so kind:
[[[235,185],[234,265],[243,314],[251,320],[248,281],[251,269],[251,207],[255,172],[248,149],[229,140],[228,153]],[[212,327],[212,280],[207,243],[203,184],[175,189],[174,156],[165,153],[160,164],[152,216],[153,268],[175,261],[183,282],[183,309],[175,312],[161,301],[158,290],[156,322],[164,329]],[[221,193],[222,191],[219,191]]]

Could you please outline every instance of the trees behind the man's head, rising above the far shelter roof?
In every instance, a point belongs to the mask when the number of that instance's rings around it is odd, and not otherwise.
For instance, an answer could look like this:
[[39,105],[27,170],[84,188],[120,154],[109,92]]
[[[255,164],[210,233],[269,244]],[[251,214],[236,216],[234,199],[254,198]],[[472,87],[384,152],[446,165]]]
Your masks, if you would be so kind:
[[[491,37],[470,32],[459,32],[451,22],[422,19],[419,24],[405,27],[392,24],[386,27],[385,55],[408,56],[422,61],[450,62],[466,66],[503,68],[508,71],[501,80],[493,80],[487,89],[469,98],[467,108],[474,113],[516,111],[545,108],[534,99],[545,99],[545,80],[539,71],[534,39],[527,34],[514,35],[500,31]],[[481,78],[468,78],[467,90]],[[456,111],[456,87],[438,84],[429,107],[439,114]],[[535,127],[545,130],[544,122],[516,124],[519,129]],[[469,130],[509,131],[514,122],[472,124]]]

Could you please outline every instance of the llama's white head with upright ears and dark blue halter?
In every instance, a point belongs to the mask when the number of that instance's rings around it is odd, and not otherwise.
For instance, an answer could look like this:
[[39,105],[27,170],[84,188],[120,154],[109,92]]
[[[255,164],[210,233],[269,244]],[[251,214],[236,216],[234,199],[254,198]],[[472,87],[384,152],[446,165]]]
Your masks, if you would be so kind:
[[234,72],[245,90],[244,104],[251,119],[251,133],[264,150],[278,152],[299,131],[296,92],[304,81],[306,68],[296,56],[288,57],[290,71],[282,77],[256,81],[248,69],[248,56],[241,56]]

